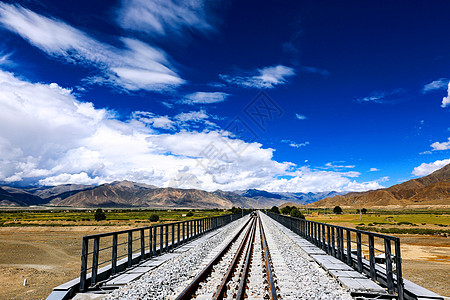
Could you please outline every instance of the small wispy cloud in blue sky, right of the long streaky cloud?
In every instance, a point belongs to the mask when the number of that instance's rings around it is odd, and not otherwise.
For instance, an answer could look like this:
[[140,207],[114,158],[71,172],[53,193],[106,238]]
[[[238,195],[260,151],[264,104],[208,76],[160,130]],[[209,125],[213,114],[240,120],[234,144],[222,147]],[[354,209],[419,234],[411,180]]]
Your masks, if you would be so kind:
[[295,75],[293,68],[283,65],[264,67],[256,70],[256,75],[253,76],[230,76],[219,75],[219,77],[230,83],[246,88],[274,88],[277,85],[285,84],[287,78]]

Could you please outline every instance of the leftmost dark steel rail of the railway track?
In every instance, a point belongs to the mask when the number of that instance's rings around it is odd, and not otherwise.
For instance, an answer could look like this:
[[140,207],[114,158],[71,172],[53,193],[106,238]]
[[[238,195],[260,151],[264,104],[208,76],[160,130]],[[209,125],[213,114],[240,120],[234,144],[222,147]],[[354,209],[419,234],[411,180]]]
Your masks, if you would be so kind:
[[[209,274],[211,274],[214,265],[216,265],[222,257],[228,252],[228,250],[231,248],[231,245],[238,239],[238,237],[241,235],[242,231],[247,227],[248,223],[252,221],[253,218],[250,218],[244,226],[239,230],[239,232],[233,237],[233,239],[214,257],[213,260],[198,274],[194,280],[178,295],[176,300],[187,300],[191,299],[194,295],[195,291],[198,289],[198,286],[200,282],[204,281]],[[251,226],[246,232],[246,236],[250,233]],[[244,238],[245,240],[245,238]]]

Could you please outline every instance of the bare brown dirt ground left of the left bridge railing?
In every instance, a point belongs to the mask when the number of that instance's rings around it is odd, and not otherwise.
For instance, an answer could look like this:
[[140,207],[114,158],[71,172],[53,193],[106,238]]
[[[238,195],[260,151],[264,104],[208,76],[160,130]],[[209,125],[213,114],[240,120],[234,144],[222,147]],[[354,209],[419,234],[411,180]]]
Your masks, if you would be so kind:
[[123,229],[0,227],[0,299],[47,298],[53,287],[79,276],[84,235]]

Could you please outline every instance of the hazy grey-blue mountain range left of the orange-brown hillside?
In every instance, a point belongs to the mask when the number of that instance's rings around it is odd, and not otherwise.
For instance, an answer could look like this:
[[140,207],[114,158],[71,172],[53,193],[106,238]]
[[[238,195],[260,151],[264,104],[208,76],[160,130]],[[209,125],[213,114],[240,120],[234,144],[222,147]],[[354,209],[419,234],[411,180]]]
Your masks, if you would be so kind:
[[329,193],[270,193],[250,189],[236,192],[159,188],[131,181],[93,185],[66,184],[55,187],[0,187],[0,206],[152,207],[152,208],[264,208],[285,202],[307,204]]

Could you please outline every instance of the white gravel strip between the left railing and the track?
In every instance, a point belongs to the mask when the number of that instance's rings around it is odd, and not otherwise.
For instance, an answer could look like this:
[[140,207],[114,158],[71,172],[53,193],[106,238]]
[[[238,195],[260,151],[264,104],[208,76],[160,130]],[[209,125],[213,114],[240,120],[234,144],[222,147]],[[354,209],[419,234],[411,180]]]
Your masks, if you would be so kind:
[[218,229],[218,234],[113,291],[107,299],[175,299],[247,220],[248,216]]

